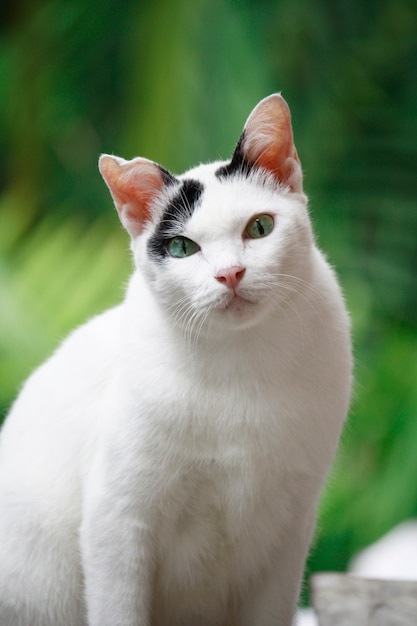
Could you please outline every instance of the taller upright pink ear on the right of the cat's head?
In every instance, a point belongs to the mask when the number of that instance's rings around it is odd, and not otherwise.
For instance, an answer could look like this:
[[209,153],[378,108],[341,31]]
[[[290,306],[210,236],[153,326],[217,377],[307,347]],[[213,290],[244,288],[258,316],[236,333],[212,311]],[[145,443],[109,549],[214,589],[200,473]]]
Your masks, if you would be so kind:
[[303,175],[294,145],[290,109],[280,94],[264,98],[253,109],[236,150],[250,166],[268,170],[292,191],[302,191]]

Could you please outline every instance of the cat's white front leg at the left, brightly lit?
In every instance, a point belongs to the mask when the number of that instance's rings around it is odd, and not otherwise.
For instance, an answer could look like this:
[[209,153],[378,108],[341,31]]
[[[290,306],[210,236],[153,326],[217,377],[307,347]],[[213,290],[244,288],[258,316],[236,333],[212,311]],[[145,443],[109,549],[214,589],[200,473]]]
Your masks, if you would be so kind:
[[149,626],[153,554],[149,526],[114,480],[85,494],[81,552],[88,626]]

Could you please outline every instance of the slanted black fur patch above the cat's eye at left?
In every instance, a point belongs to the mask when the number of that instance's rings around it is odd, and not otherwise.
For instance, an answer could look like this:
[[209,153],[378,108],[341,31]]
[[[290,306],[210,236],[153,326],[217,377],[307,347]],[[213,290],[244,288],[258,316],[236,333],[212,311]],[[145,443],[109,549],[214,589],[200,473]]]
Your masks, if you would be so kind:
[[148,252],[160,260],[168,256],[167,243],[175,234],[181,235],[183,224],[194,213],[204,186],[198,180],[177,181],[180,187],[165,209],[154,234],[148,241]]

